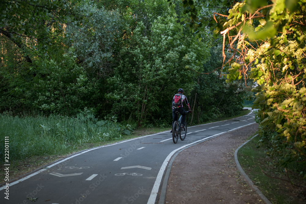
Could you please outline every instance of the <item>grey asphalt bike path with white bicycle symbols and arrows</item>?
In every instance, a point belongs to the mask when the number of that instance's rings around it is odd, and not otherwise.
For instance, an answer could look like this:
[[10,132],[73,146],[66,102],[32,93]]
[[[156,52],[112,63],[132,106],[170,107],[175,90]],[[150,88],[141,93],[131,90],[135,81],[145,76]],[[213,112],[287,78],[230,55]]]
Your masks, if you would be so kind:
[[0,203],[158,203],[165,170],[175,153],[253,124],[254,118],[251,112],[188,127],[185,140],[176,144],[167,131],[82,151],[0,187]]

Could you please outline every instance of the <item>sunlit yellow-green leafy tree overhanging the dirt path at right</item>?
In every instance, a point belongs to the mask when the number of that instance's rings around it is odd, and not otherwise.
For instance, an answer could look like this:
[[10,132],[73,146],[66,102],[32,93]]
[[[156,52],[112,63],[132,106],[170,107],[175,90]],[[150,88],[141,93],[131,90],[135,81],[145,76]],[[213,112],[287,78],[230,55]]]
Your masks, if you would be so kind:
[[[290,161],[306,161],[305,3],[226,2],[223,13],[215,13],[206,21],[215,21],[215,37],[220,33],[223,49],[234,53],[226,63],[228,80],[245,76],[258,84],[252,89],[257,92],[254,108],[259,109],[264,138],[272,141],[270,154],[278,154],[283,166]],[[200,18],[192,7],[193,1],[183,4],[194,20],[190,27],[199,30],[201,25],[194,23]],[[277,136],[270,136],[269,131],[277,132]]]

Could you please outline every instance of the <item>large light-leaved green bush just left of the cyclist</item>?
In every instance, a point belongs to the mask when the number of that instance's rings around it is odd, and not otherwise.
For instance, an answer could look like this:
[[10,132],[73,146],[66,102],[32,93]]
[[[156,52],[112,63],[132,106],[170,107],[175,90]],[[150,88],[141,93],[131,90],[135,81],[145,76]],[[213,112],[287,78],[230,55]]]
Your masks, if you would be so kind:
[[150,28],[137,22],[121,49],[122,60],[108,79],[111,86],[107,94],[114,101],[114,113],[124,117],[121,120],[136,119],[140,126],[152,121],[151,117],[170,117],[171,97],[178,86],[187,90],[194,86],[196,72],[188,68],[202,68],[206,47],[186,33],[175,17],[151,19]]

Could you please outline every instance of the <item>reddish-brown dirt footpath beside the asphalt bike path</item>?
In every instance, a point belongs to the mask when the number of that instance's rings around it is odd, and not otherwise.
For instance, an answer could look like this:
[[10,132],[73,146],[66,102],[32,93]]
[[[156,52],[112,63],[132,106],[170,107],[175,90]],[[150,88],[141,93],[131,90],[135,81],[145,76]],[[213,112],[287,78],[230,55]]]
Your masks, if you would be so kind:
[[264,203],[236,167],[235,150],[258,128],[249,125],[183,150],[174,160],[165,203]]

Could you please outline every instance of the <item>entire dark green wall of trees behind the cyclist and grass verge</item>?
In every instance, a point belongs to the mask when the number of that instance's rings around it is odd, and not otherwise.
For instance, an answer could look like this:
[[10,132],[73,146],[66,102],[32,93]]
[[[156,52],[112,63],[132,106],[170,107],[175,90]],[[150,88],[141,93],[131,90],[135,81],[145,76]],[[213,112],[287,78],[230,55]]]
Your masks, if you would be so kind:
[[[196,104],[200,121],[240,111],[240,83],[228,86],[220,73],[201,74],[222,66],[220,47],[210,54],[210,30],[202,29],[196,40],[180,21],[179,7],[164,0],[14,2],[16,8],[1,4],[2,112],[38,110],[92,126],[109,118],[129,134],[128,124],[169,126],[178,87]],[[207,18],[206,11],[199,12]]]

